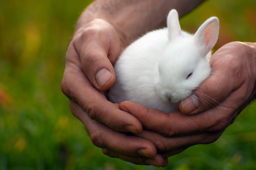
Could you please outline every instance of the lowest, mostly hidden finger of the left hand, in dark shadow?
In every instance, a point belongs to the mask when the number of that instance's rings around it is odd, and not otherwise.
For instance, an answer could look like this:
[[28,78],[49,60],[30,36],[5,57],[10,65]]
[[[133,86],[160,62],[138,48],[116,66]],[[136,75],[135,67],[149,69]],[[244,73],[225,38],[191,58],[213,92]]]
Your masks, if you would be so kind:
[[110,157],[120,158],[124,161],[128,161],[137,165],[152,165],[156,167],[165,167],[168,165],[168,159],[164,159],[160,154],[157,154],[152,159],[148,159],[146,157],[129,157],[108,149],[102,149],[102,152],[103,154]]

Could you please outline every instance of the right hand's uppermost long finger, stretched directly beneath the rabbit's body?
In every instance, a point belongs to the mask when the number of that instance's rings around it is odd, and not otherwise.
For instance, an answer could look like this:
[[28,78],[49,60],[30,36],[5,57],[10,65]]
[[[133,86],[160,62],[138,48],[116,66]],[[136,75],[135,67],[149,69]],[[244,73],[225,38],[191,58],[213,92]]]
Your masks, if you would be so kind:
[[[235,102],[235,100],[229,101]],[[197,115],[185,115],[179,111],[168,114],[159,110],[148,109],[141,104],[130,101],[122,102],[119,107],[121,110],[137,117],[144,129],[155,131],[167,137],[173,137],[225,130],[236,117],[238,108],[236,103],[230,105],[229,101]]]

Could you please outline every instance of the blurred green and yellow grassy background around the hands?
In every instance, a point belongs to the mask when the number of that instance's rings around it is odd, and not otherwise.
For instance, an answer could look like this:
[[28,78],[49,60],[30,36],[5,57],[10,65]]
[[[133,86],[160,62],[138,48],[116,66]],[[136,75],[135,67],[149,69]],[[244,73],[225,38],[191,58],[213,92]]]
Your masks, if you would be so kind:
[[[0,1],[0,170],[156,170],[110,158],[92,145],[61,93],[65,52],[92,0]],[[215,49],[256,42],[256,0],[208,0],[181,19],[194,32],[220,19]],[[166,170],[256,169],[256,104],[213,144],[169,158]]]

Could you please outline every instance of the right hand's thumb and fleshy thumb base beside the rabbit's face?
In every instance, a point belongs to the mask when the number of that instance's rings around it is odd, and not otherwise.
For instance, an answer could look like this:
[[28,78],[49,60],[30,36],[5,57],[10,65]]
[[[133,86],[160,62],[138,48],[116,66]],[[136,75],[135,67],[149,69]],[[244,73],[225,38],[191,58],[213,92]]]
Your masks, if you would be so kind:
[[182,113],[193,115],[224,101],[226,107],[237,108],[234,112],[240,113],[255,99],[255,60],[256,43],[230,42],[222,46],[211,57],[211,76],[179,103]]

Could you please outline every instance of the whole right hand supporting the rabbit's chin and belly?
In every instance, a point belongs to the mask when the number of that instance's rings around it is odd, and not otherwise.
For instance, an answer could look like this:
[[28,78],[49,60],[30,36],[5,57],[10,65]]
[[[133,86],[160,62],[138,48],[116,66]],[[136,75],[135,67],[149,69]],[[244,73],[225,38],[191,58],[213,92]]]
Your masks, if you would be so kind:
[[185,114],[166,114],[135,102],[119,107],[139,119],[145,130],[136,136],[152,141],[164,158],[189,146],[212,143],[255,99],[255,49],[255,43],[231,42],[216,51],[212,74],[179,103]]

